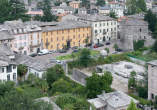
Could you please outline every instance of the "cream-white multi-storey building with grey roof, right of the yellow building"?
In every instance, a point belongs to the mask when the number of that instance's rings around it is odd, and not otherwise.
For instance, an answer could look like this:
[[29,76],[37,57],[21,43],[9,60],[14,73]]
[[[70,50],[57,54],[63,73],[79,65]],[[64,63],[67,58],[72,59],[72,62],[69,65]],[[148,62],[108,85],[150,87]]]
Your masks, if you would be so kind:
[[117,39],[117,21],[103,15],[77,15],[80,21],[92,27],[92,44],[110,42]]

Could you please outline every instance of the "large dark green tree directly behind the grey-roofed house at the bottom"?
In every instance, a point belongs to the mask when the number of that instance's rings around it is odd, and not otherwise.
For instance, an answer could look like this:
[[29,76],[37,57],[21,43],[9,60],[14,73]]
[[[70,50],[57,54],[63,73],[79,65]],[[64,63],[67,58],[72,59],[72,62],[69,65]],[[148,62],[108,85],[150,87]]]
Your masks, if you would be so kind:
[[105,72],[102,76],[94,73],[91,77],[88,77],[86,79],[87,97],[95,98],[103,90],[110,92],[112,80],[113,78],[110,72]]

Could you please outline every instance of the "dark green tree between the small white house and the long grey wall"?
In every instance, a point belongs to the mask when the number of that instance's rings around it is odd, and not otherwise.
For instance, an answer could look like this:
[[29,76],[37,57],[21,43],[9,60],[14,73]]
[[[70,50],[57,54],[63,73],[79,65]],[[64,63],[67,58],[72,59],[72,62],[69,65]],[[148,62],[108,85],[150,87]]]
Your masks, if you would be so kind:
[[61,67],[61,65],[55,65],[54,67],[47,69],[46,81],[49,87],[51,87],[52,83],[62,78],[63,76],[64,76],[64,70]]

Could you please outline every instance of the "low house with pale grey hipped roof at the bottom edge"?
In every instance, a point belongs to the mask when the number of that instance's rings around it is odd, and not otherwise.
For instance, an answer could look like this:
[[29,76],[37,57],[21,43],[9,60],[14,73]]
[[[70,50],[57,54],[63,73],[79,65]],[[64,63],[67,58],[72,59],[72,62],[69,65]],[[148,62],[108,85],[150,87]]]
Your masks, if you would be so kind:
[[[137,100],[127,94],[121,91],[115,91],[111,93],[103,92],[101,95],[98,95],[97,98],[89,99],[88,102],[93,105],[96,110],[127,110],[132,100],[135,104],[138,103]],[[91,107],[90,110],[92,110]]]

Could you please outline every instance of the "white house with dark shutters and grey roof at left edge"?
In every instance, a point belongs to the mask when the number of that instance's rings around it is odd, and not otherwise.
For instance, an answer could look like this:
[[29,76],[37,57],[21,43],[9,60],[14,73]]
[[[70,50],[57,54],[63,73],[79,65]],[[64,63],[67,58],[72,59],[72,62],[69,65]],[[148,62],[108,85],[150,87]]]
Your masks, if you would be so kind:
[[0,45],[0,80],[17,82],[15,54],[7,45]]

